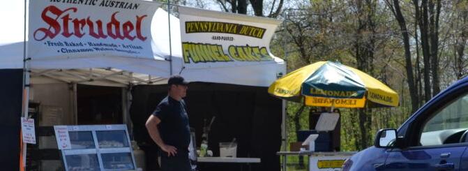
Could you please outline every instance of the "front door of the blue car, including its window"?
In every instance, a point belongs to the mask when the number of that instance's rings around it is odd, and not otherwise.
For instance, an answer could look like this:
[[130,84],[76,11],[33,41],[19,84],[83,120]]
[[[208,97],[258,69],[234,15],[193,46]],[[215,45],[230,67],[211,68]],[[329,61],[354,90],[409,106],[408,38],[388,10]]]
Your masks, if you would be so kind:
[[382,170],[468,170],[468,94],[464,91],[453,91],[432,103],[432,109],[416,113],[402,138],[407,145],[388,149]]

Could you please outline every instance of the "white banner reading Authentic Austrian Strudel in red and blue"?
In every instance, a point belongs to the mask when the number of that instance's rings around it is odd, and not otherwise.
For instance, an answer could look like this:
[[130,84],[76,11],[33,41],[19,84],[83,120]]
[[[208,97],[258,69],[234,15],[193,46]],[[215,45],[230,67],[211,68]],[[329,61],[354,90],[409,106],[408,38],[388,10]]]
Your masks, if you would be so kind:
[[153,59],[151,20],[159,6],[132,0],[29,1],[29,57]]

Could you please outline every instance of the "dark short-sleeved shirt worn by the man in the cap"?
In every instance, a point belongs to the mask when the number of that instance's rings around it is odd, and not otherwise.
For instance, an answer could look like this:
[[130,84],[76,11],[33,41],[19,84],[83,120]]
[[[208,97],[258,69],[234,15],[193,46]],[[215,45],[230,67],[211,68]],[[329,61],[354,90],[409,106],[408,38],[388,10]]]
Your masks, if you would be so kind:
[[156,107],[153,115],[161,120],[158,124],[158,130],[163,142],[177,148],[176,156],[181,154],[188,156],[190,127],[188,126],[185,102],[183,100],[176,101],[167,96]]

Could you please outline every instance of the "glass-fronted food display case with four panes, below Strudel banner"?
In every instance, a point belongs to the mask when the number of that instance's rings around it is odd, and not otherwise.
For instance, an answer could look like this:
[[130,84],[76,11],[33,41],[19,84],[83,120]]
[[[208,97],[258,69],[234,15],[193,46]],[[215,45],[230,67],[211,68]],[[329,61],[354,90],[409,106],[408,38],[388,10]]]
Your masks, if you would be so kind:
[[67,171],[136,170],[126,125],[54,126],[54,129]]

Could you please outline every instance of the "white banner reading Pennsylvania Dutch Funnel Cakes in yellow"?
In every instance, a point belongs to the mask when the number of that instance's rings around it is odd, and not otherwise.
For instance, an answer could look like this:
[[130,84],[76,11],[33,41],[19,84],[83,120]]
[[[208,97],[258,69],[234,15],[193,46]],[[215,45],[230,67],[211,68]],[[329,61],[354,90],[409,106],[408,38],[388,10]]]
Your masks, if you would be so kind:
[[213,68],[282,62],[270,52],[280,20],[179,7],[183,66]]

